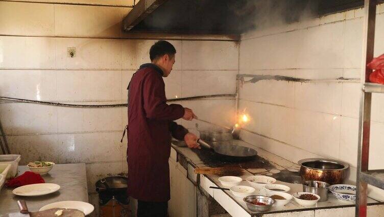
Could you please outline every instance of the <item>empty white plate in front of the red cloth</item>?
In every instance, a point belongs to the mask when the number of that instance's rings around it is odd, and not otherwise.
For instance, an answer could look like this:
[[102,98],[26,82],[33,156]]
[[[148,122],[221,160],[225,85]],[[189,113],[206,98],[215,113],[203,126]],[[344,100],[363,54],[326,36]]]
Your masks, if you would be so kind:
[[41,183],[24,185],[13,189],[12,193],[18,196],[41,196],[49,193],[53,193],[60,189],[60,185],[53,183]]

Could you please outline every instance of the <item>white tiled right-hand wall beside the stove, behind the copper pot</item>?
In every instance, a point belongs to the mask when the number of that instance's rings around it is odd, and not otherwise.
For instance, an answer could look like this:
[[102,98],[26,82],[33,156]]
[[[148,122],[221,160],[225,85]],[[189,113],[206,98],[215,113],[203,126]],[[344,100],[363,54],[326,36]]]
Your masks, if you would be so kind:
[[[377,7],[376,56],[384,53],[383,6]],[[359,79],[362,25],[362,10],[358,9],[242,35],[240,74],[328,79],[244,84],[240,109],[246,109],[251,122],[241,133],[242,139],[295,162],[321,156],[356,167],[361,87],[356,80],[335,79]],[[371,169],[383,168],[383,97],[372,97]],[[349,179],[355,179],[355,173]]]

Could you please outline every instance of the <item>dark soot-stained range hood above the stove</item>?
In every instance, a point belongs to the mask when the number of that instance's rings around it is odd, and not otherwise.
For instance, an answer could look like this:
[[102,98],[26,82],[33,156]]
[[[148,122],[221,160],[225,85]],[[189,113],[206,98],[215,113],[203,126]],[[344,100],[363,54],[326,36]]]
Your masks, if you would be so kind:
[[318,17],[363,6],[364,0],[140,0],[124,18],[123,30],[241,34],[275,19],[292,23],[303,14]]

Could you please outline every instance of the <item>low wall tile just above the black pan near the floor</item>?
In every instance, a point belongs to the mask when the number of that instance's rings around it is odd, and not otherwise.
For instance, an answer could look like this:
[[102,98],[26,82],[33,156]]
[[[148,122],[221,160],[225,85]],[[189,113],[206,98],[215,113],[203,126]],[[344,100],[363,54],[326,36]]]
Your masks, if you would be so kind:
[[85,165],[88,193],[96,192],[95,183],[105,177],[118,176],[123,172],[122,162],[91,163]]

